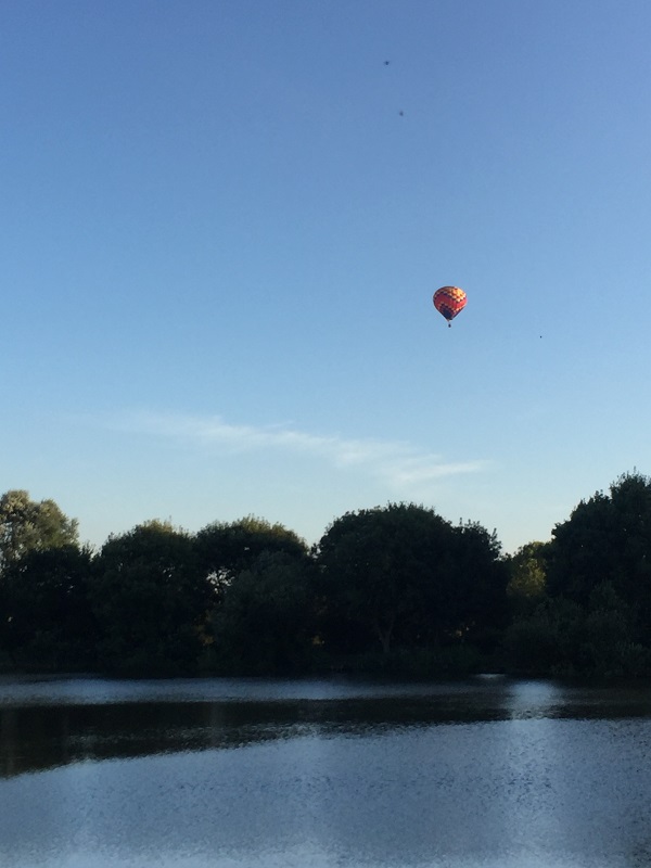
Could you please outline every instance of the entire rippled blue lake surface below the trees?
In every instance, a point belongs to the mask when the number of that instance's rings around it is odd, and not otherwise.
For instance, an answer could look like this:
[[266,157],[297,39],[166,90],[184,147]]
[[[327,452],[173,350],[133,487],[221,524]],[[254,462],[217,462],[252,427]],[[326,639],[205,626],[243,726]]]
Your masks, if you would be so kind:
[[651,688],[0,678],[3,868],[651,866]]

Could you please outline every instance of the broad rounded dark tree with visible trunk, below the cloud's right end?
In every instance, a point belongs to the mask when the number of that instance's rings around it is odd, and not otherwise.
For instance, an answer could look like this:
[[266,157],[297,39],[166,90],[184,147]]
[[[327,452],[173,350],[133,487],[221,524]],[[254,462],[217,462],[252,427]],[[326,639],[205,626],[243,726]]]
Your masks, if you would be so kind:
[[355,652],[373,636],[388,653],[464,637],[503,615],[498,556],[478,525],[413,503],[346,513],[317,547],[326,639]]

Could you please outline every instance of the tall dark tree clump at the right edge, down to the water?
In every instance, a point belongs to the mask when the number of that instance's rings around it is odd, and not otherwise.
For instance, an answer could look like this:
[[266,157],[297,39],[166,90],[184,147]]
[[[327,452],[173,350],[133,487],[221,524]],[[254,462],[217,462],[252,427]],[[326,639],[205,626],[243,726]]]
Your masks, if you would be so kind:
[[520,607],[505,637],[508,665],[651,673],[651,481],[637,472],[620,476],[608,494],[582,500],[550,542],[533,545],[511,559],[509,590]]

